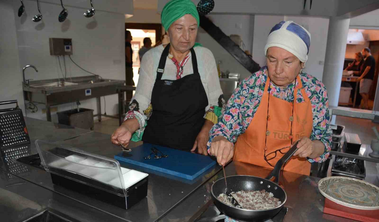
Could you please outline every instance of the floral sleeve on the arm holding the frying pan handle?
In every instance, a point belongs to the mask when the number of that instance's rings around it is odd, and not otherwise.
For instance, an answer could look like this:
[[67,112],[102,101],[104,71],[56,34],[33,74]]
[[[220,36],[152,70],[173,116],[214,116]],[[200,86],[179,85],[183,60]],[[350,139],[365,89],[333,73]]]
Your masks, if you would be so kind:
[[321,156],[315,159],[308,159],[309,162],[322,163],[329,157],[330,145],[332,143],[332,129],[330,128],[329,101],[327,91],[323,83],[316,78],[311,80],[316,84],[315,90],[310,99],[313,113],[313,129],[310,135],[311,140],[319,140],[324,143],[325,150]]

